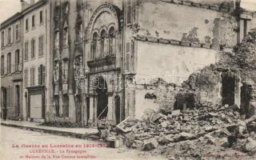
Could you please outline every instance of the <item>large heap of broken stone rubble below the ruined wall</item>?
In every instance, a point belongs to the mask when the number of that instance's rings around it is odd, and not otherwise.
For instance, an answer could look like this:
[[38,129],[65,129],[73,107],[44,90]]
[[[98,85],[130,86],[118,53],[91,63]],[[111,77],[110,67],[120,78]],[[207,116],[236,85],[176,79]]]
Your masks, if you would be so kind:
[[[255,116],[245,119],[235,105],[208,104],[193,110],[172,110],[169,114],[149,111],[142,121],[126,118],[110,129],[107,140],[116,140],[127,147],[154,150],[161,154],[178,154],[186,146],[184,150],[189,152],[186,154],[197,157],[213,150],[212,146],[254,154],[255,133]],[[178,150],[174,151],[177,145]],[[190,146],[192,148],[189,150],[187,147]]]

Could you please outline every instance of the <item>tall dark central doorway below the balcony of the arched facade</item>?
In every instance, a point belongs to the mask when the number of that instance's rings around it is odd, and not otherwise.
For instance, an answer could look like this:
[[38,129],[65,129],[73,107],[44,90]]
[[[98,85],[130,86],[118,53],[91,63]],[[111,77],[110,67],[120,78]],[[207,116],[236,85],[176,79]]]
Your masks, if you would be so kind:
[[96,87],[97,93],[97,118],[103,119],[106,118],[108,112],[108,95],[106,81],[102,77],[98,77]]

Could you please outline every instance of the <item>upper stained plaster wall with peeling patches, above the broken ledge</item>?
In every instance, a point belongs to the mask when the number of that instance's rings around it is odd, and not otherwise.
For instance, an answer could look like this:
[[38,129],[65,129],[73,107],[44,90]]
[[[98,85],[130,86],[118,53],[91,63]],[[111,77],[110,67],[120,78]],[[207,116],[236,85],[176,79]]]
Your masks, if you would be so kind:
[[234,31],[237,22],[234,16],[207,8],[142,1],[139,5],[138,25],[138,34],[157,38],[216,46],[234,46],[237,41],[237,33]]

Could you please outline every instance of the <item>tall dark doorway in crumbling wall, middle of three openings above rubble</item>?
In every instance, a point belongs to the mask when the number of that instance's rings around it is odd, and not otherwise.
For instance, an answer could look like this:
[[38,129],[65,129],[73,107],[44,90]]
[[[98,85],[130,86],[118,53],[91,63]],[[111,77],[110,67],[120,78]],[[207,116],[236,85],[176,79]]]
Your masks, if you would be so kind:
[[234,76],[222,74],[222,105],[234,105]]

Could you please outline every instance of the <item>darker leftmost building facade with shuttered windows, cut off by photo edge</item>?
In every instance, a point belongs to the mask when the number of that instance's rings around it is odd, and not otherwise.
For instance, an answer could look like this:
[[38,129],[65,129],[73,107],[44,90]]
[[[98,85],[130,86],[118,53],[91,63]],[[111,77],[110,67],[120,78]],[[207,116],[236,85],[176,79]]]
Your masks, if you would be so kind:
[[21,13],[1,24],[1,110],[7,110],[7,118],[16,120],[23,118],[22,29]]

